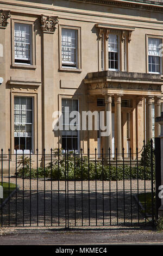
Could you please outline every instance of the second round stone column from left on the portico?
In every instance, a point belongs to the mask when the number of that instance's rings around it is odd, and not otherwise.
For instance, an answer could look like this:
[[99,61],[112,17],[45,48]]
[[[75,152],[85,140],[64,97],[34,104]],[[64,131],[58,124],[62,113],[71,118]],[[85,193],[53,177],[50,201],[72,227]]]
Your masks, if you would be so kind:
[[115,148],[117,148],[117,159],[120,160],[122,159],[121,96],[115,96]]

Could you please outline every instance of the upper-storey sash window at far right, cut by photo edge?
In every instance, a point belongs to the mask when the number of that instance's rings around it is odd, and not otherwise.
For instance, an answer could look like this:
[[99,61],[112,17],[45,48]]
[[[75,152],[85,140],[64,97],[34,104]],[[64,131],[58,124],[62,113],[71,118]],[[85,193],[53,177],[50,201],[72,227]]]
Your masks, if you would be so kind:
[[148,71],[150,73],[161,73],[160,38],[148,38]]

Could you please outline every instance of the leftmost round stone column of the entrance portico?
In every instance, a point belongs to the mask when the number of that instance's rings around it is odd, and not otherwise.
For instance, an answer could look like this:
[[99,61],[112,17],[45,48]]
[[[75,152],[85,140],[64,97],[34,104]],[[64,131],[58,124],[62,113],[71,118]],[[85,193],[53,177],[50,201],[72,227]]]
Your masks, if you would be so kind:
[[111,95],[106,94],[105,95],[105,120],[106,120],[106,115],[108,116],[108,121],[109,121],[109,135],[105,136],[105,154],[106,157],[109,157],[109,148],[110,148],[110,158],[112,159],[112,119],[111,119]]

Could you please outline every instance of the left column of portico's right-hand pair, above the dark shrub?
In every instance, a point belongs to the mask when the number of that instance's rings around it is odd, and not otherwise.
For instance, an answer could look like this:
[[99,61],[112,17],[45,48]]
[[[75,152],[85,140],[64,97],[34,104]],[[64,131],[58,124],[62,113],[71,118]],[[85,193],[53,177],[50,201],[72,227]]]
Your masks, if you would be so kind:
[[146,138],[147,142],[152,139],[152,96],[146,98]]

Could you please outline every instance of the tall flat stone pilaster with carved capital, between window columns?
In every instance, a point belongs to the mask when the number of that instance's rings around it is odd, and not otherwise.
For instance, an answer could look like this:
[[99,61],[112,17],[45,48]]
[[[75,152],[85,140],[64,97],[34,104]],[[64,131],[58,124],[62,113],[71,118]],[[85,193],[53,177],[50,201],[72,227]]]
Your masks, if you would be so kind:
[[54,32],[58,23],[57,17],[41,15],[42,30],[42,147],[49,152],[54,145],[54,132],[52,127],[52,115],[56,107],[54,102]]

